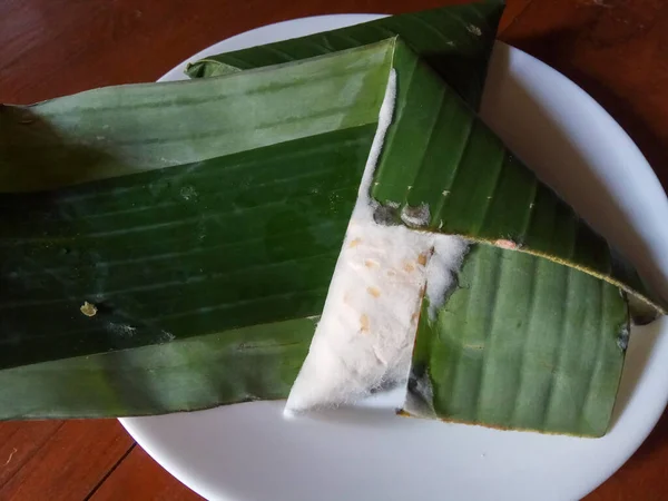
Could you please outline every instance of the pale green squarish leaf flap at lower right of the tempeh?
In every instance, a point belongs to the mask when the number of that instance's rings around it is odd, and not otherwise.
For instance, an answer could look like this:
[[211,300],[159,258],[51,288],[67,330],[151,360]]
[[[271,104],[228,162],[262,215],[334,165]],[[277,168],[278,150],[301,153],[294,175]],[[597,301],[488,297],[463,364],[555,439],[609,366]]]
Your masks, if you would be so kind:
[[433,322],[426,307],[409,412],[502,429],[606,433],[629,333],[618,287],[478,244]]

